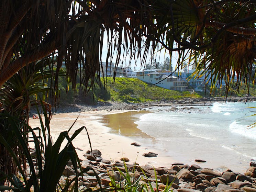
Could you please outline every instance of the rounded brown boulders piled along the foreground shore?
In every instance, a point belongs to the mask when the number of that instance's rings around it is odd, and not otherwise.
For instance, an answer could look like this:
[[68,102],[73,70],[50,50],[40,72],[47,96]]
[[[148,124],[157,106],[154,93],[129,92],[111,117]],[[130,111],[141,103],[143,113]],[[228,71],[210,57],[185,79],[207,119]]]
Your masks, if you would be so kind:
[[[154,191],[157,189],[163,191],[170,186],[167,191],[256,192],[255,162],[251,162],[248,170],[241,174],[227,167],[218,167],[213,170],[202,168],[197,164],[189,166],[183,163],[172,163],[169,167],[154,168],[151,165],[140,166],[138,163],[129,163],[128,158],[111,162],[102,159],[99,150],[87,151],[84,156],[87,160],[81,160],[81,167],[82,169],[90,168],[90,170],[79,176],[79,190],[97,189],[100,185],[102,188],[109,188],[116,184],[125,188],[127,183],[131,182],[135,187],[136,185],[141,188],[144,186],[149,191],[152,191],[151,187]],[[27,174],[30,174],[29,171]],[[74,167],[69,161],[61,178],[62,182],[73,179],[75,174]],[[127,179],[130,181],[128,182]]]

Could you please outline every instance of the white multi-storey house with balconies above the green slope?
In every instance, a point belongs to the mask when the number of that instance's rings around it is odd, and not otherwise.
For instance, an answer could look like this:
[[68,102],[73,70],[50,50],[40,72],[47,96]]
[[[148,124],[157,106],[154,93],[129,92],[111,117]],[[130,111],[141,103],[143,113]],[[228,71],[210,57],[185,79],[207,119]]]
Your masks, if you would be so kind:
[[187,87],[187,83],[185,81],[181,81],[181,79],[175,76],[167,76],[157,71],[148,73],[144,76],[137,76],[137,78],[144,82],[156,84],[159,87],[169,90],[186,91]]

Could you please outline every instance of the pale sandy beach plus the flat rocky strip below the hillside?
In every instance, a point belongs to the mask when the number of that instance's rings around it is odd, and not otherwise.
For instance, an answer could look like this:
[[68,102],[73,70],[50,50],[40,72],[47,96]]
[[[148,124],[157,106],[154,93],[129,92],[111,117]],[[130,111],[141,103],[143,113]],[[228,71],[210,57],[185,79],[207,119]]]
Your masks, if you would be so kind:
[[[242,100],[244,101],[244,100]],[[107,160],[120,161],[122,157],[126,157],[130,160],[130,162],[136,162],[140,165],[152,165],[154,167],[169,167],[173,162],[177,162],[177,159],[175,159],[175,156],[166,156],[163,151],[156,150],[155,148],[148,147],[146,145],[143,145],[143,142],[140,143],[140,141],[123,136],[122,134],[113,134],[109,131],[111,130],[111,127],[106,126],[106,122],[102,122],[105,115],[110,114],[120,114],[120,113],[126,113],[126,112],[132,112],[137,111],[142,112],[145,111],[148,108],[154,108],[155,106],[168,106],[169,109],[175,108],[175,106],[181,106],[181,110],[186,110],[188,106],[210,106],[212,103],[216,102],[214,101],[197,101],[194,103],[193,100],[181,100],[176,101],[173,103],[170,102],[151,102],[146,104],[133,104],[133,103],[120,103],[120,102],[102,102],[98,103],[96,106],[88,106],[88,105],[78,105],[73,108],[72,106],[69,106],[68,110],[61,109],[61,112],[64,113],[53,113],[52,121],[51,121],[51,127],[62,127],[61,131],[66,131],[71,124],[75,121],[76,117],[79,115],[78,121],[75,123],[73,130],[76,130],[80,128],[81,126],[86,126],[90,135],[91,143],[92,143],[92,149],[98,149],[102,153],[102,158]],[[182,106],[184,108],[182,108]],[[90,107],[90,110],[88,110],[88,107]],[[122,110],[120,110],[122,109]],[[176,109],[175,109],[176,110]],[[193,110],[193,109],[192,109]],[[70,112],[71,111],[71,112]],[[149,111],[148,111],[149,112]],[[69,121],[69,124],[63,123],[63,119],[66,119]],[[72,121],[71,121],[72,120]],[[36,125],[36,122],[38,120],[30,120],[30,125],[32,127],[38,126]],[[35,124],[34,124],[35,123]],[[69,125],[69,126],[68,126]],[[136,126],[136,125],[135,125]],[[55,137],[60,132],[60,130],[53,131],[52,128],[52,134],[55,134]],[[72,133],[72,132],[71,132]],[[140,147],[136,147],[131,145],[131,143],[137,142],[139,144],[142,144]],[[74,140],[74,146],[77,147],[77,153],[79,158],[82,160],[86,159],[83,155],[86,153],[87,150],[90,150],[87,135],[83,134],[82,139],[78,139],[77,141]],[[79,150],[79,149],[82,149]],[[148,158],[143,157],[142,155],[144,153],[153,152],[158,154],[157,157]],[[181,162],[182,163],[182,162]],[[194,164],[197,163],[198,165],[202,167],[208,167],[208,168],[216,168],[215,165],[210,165],[209,163],[198,163],[191,160],[191,162],[185,162]],[[227,166],[228,167],[228,166]],[[243,170],[244,171],[244,170]],[[242,171],[241,171],[242,172]]]

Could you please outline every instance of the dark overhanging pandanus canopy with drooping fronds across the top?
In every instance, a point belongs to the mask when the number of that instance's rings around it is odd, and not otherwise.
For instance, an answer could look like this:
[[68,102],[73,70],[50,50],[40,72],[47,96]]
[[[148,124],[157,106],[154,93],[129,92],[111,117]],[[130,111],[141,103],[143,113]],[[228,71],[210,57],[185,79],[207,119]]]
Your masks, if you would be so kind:
[[58,58],[57,72],[65,59],[73,87],[81,67],[81,83],[87,87],[100,70],[103,38],[108,42],[107,65],[117,66],[126,55],[143,64],[149,51],[165,48],[170,55],[178,53],[178,65],[185,59],[188,63],[199,60],[198,72],[209,70],[213,84],[223,79],[229,87],[235,73],[244,79],[251,74],[255,3],[4,0],[0,5],[0,87],[22,67],[51,53]]

